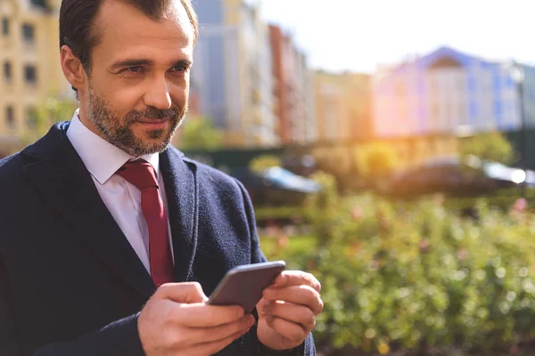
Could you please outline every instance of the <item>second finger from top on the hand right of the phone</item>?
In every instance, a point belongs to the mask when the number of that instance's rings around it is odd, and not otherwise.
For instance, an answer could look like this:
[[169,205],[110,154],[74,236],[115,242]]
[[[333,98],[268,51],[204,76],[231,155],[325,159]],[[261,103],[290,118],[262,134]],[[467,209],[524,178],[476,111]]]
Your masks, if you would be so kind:
[[270,301],[283,301],[309,307],[316,315],[323,310],[323,301],[316,289],[309,286],[269,287],[262,295]]

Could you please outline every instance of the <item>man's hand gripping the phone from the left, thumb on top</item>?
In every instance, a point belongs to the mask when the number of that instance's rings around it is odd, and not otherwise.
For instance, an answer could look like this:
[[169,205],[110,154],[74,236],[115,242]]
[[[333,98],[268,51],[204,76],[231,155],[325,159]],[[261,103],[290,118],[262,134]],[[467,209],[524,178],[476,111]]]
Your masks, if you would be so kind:
[[137,320],[146,355],[211,355],[254,325],[242,307],[208,305],[207,300],[198,283],[158,288]]

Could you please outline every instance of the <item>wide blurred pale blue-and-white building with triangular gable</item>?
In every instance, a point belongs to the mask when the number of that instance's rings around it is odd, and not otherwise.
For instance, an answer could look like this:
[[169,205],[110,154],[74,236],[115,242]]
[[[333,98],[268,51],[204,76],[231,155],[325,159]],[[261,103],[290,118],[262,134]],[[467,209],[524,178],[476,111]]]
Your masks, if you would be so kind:
[[[525,84],[526,98],[535,96],[535,76],[526,75]],[[442,47],[374,76],[374,134],[390,138],[518,130],[518,93],[506,62]],[[526,102],[527,120],[535,123],[535,101]]]

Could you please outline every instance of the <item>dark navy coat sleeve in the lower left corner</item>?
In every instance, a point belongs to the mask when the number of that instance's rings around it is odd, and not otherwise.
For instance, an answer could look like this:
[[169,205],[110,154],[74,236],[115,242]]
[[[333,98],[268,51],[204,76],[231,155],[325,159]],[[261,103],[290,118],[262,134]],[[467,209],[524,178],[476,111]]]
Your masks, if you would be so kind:
[[[31,353],[35,356],[143,356],[144,351],[137,332],[137,317],[138,314],[131,315],[76,340],[48,344]],[[21,344],[19,337],[12,308],[9,273],[0,260],[0,355],[28,355],[30,351],[25,350],[28,345]]]

